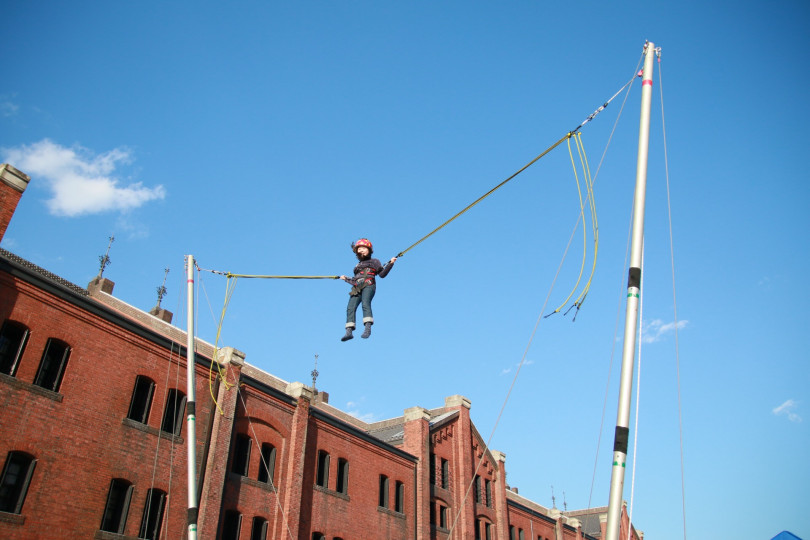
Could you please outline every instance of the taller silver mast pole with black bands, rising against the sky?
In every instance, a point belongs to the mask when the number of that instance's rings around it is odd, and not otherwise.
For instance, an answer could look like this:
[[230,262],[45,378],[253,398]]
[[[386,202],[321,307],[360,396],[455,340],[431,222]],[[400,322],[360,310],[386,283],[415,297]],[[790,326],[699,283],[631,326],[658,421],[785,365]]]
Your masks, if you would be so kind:
[[633,197],[633,234],[630,243],[630,270],[627,279],[627,314],[624,323],[622,373],[619,385],[619,409],[616,434],[613,440],[613,469],[610,476],[610,498],[606,540],[619,540],[622,519],[622,492],[627,461],[627,442],[630,438],[630,401],[633,391],[633,364],[635,362],[638,307],[641,294],[641,261],[644,245],[644,199],[647,191],[647,153],[650,142],[650,103],[652,102],[652,69],[655,45],[644,45],[645,58],[641,83],[641,121],[638,130],[638,164],[636,165],[636,191]]

